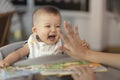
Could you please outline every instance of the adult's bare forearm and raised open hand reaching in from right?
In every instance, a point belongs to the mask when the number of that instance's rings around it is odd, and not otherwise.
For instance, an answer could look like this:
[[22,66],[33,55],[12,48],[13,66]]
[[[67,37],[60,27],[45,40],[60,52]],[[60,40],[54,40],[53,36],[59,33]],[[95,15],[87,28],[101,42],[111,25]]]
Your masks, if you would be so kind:
[[117,69],[120,69],[120,54],[98,52],[91,49],[86,49],[81,44],[81,39],[78,33],[78,26],[75,27],[75,31],[72,29],[72,25],[69,22],[64,23],[64,29],[66,35],[59,31],[60,37],[64,41],[62,51],[66,52],[73,58],[79,60],[86,60],[95,63],[101,63]]

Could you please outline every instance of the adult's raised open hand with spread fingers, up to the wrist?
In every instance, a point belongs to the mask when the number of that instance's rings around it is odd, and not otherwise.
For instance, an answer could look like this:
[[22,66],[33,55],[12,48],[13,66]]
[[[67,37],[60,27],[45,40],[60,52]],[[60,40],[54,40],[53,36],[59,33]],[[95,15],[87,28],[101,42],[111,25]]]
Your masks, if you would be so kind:
[[64,42],[60,49],[73,58],[84,60],[88,48],[81,45],[82,41],[79,37],[78,26],[75,26],[75,30],[73,30],[72,25],[69,22],[65,22],[64,29],[66,35],[59,31],[59,35]]

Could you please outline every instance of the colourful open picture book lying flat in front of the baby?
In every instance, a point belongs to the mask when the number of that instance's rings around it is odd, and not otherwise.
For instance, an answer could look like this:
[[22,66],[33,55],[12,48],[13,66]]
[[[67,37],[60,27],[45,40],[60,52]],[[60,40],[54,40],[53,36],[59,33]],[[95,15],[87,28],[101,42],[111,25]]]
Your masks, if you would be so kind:
[[95,72],[107,71],[107,68],[97,63],[89,63],[86,61],[74,61],[74,62],[61,62],[54,64],[39,64],[39,65],[28,65],[28,66],[11,66],[8,70],[14,71],[31,71],[37,72],[42,75],[70,75],[73,71],[68,70],[72,66],[84,66],[87,65],[91,67]]

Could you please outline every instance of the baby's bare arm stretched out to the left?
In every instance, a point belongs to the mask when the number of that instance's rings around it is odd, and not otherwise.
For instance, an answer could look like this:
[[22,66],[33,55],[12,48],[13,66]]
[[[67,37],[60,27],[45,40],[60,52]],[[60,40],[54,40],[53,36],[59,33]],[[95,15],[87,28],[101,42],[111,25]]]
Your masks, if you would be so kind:
[[29,48],[28,45],[26,44],[24,47],[10,53],[4,60],[0,61],[0,67],[9,66],[28,54]]

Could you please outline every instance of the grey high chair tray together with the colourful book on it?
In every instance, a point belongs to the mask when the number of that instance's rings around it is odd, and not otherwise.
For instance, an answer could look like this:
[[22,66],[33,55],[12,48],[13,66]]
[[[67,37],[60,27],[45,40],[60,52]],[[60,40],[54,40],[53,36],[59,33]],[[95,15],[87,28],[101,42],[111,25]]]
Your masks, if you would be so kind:
[[19,61],[13,66],[1,69],[0,77],[9,79],[31,74],[40,74],[44,76],[71,75],[72,73],[74,73],[74,71],[68,70],[68,68],[78,65],[87,65],[91,67],[95,72],[107,71],[106,67],[98,63],[79,61],[67,55],[54,55]]

